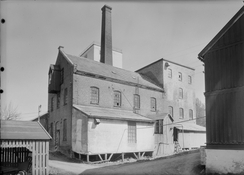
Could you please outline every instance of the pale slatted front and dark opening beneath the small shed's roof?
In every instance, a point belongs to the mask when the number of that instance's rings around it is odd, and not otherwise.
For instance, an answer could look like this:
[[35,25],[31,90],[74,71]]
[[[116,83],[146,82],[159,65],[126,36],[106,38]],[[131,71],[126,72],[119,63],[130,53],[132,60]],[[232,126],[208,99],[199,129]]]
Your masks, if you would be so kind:
[[32,175],[49,174],[49,141],[2,141],[0,142],[1,166],[18,167],[32,157]]

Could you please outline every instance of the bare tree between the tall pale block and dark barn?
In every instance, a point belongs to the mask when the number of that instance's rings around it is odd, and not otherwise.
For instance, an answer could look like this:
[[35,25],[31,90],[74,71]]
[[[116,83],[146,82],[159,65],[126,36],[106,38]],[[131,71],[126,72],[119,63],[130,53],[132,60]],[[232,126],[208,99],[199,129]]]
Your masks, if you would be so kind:
[[196,98],[196,122],[198,125],[206,127],[205,105]]

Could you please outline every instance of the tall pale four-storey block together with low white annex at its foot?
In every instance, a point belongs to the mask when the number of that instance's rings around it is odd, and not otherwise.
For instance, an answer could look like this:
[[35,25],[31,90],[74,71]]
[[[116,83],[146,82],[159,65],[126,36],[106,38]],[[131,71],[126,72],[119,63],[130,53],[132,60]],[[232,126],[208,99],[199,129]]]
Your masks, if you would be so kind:
[[163,109],[174,119],[174,142],[182,149],[197,148],[206,141],[205,128],[196,125],[195,70],[160,59],[136,72],[157,83],[165,91]]

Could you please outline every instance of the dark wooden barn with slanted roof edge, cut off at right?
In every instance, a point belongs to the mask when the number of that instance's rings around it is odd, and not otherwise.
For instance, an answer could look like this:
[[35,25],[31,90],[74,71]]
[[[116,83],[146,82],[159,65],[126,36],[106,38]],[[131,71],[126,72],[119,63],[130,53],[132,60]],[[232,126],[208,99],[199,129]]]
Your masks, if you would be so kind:
[[[244,152],[243,41],[244,6],[198,55],[205,65],[206,148],[209,150],[239,150],[238,155]],[[226,155],[229,156],[227,152]],[[228,172],[221,173],[234,173],[226,169]],[[239,170],[244,172],[244,167]]]

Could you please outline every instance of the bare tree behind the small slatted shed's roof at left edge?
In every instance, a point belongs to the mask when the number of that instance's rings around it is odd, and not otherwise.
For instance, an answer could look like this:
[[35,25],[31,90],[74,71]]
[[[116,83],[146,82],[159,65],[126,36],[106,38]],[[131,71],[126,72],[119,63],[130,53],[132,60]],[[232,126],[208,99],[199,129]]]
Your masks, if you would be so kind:
[[17,107],[13,107],[10,102],[3,110],[1,110],[1,119],[2,120],[16,120],[21,113],[17,111]]

